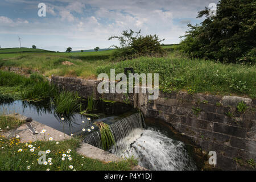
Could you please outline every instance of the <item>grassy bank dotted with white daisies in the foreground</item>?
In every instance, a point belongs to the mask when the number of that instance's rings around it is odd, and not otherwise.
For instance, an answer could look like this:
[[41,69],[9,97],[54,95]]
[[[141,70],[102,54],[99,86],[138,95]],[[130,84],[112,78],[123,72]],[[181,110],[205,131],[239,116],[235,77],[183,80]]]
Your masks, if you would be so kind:
[[[135,164],[134,160],[104,163],[100,160],[86,158],[76,152],[79,144],[80,142],[77,139],[64,140],[59,143],[55,141],[20,143],[20,138],[6,139],[0,135],[0,170],[118,171],[130,170]],[[39,151],[49,151],[46,154],[47,164],[38,163]]]

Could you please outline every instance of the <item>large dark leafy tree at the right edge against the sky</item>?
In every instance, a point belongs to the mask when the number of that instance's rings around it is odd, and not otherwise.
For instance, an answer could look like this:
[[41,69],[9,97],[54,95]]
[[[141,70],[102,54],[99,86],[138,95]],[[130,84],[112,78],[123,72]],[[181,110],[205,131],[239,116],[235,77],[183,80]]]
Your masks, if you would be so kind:
[[251,61],[256,63],[256,2],[221,0],[217,16],[209,9],[199,11],[197,18],[207,18],[192,26],[183,36],[181,48],[191,57],[204,57],[223,62]]

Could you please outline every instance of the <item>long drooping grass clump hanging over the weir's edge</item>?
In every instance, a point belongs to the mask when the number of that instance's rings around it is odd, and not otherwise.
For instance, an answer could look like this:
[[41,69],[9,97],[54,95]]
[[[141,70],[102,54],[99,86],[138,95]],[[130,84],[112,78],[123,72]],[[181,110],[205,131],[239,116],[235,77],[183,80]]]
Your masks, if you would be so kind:
[[101,145],[103,150],[108,150],[111,146],[115,144],[114,136],[110,130],[109,125],[104,122],[94,122],[94,125],[100,128],[101,132]]

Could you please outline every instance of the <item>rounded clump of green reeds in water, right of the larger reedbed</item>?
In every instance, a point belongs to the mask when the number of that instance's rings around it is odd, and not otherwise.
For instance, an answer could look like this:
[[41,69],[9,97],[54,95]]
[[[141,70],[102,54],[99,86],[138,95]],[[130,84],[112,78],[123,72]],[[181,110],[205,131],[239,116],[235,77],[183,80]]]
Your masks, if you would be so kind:
[[55,111],[58,114],[71,114],[81,108],[80,100],[81,97],[77,92],[63,91],[60,94],[57,93],[55,95]]

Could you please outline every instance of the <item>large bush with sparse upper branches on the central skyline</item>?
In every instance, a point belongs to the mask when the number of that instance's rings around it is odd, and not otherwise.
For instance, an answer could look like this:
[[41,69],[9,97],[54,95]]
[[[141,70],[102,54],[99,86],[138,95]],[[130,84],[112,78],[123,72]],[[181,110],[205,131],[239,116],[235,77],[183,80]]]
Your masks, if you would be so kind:
[[138,56],[163,56],[164,50],[161,47],[161,42],[157,35],[140,35],[141,31],[134,32],[133,30],[123,31],[121,36],[111,36],[109,40],[118,39],[120,46],[114,52],[115,59],[132,59]]

